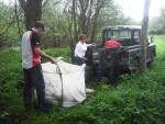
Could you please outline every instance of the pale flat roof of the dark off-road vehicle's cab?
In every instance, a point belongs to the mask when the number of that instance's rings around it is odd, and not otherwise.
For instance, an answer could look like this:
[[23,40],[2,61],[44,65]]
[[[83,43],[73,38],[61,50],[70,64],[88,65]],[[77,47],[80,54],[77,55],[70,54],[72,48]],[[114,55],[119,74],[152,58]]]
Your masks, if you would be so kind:
[[103,30],[141,30],[140,25],[117,25],[117,26],[107,26]]

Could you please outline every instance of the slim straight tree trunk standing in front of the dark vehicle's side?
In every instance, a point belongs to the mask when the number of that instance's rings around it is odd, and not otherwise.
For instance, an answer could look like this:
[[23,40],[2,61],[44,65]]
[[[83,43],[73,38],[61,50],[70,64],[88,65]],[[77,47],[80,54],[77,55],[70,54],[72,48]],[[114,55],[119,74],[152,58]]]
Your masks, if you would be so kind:
[[141,33],[141,59],[140,69],[144,71],[146,68],[146,41],[147,41],[147,26],[148,26],[148,13],[150,13],[150,0],[145,0],[144,4],[144,15],[142,20],[142,33]]

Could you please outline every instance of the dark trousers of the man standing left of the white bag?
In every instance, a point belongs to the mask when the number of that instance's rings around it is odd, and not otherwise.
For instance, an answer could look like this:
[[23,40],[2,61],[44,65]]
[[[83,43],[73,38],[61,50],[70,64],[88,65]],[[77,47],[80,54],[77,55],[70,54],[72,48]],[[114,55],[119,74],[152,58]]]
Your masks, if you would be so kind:
[[38,108],[45,108],[46,106],[45,82],[41,65],[37,65],[30,69],[23,69],[23,71],[24,71],[24,89],[23,89],[24,106],[29,108],[31,105],[33,88],[35,88]]

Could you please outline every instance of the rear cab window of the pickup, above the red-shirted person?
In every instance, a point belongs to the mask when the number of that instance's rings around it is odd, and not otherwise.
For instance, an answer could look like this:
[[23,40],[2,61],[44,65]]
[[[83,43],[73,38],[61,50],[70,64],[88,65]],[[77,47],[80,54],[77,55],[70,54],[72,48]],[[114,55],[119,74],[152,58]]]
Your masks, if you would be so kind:
[[107,31],[106,32],[106,40],[110,40],[111,36],[117,36],[119,41],[131,38],[131,31]]

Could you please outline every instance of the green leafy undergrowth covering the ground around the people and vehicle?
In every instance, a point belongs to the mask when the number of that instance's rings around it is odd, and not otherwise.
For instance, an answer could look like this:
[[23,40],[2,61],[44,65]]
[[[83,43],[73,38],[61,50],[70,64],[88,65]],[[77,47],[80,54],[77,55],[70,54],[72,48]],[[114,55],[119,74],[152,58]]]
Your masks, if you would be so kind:
[[[0,52],[0,124],[165,124],[165,36],[155,36],[155,41],[157,57],[152,70],[122,78],[117,89],[102,80],[82,104],[54,106],[50,115],[24,112],[21,55]],[[70,60],[68,47],[46,52]]]

